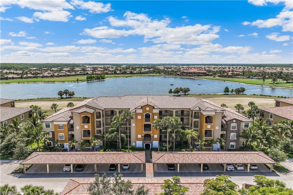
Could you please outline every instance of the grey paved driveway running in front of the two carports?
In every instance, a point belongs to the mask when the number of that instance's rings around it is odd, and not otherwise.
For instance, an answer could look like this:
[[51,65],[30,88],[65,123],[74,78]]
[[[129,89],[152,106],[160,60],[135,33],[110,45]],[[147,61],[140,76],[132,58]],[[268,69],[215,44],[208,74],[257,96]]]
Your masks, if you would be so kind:
[[[291,172],[290,173],[263,173],[266,177],[270,179],[279,179],[284,181],[287,184],[287,187],[293,188],[293,159],[287,160],[284,163],[281,163],[283,166],[287,167]],[[54,189],[57,192],[61,192],[70,178],[92,178],[93,173],[44,173],[44,174],[11,174],[11,172],[18,167],[18,162],[3,163],[1,161],[0,171],[1,171],[1,185],[10,184],[16,185],[20,189],[25,184],[35,184],[43,185],[46,189]],[[150,173],[151,170],[147,170],[147,174],[143,173],[131,173],[125,174],[125,177],[172,177],[177,173]],[[179,173],[181,177],[196,177],[196,178],[214,178],[216,175],[223,173]],[[225,173],[231,176],[231,180],[237,185],[241,186],[243,182],[248,184],[253,184],[253,173],[239,173],[229,172]],[[110,174],[109,174],[110,175]]]

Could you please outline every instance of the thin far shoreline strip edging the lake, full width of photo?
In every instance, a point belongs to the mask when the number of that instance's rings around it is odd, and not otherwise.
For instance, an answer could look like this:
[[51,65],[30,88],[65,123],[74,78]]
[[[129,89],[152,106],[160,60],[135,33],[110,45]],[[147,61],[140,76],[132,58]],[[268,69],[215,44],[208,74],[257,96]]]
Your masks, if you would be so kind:
[[109,78],[129,78],[129,77],[152,77],[152,76],[162,76],[162,77],[175,77],[175,78],[193,78],[193,79],[203,79],[203,80],[210,80],[210,81],[222,81],[222,82],[232,82],[232,83],[239,83],[244,85],[254,85],[254,86],[261,86],[267,88],[284,88],[284,89],[293,89],[293,87],[284,87],[284,86],[272,86],[272,85],[265,85],[265,84],[251,84],[251,83],[242,83],[238,81],[226,81],[226,80],[219,80],[219,79],[209,79],[209,78],[199,78],[199,77],[191,77],[191,76],[173,76],[173,75],[141,75],[141,76],[117,76],[117,77],[108,77],[105,79],[100,80],[92,80],[92,81],[65,81],[65,82],[18,82],[18,83],[1,83],[0,85],[8,85],[8,84],[32,84],[32,83],[79,83],[79,82],[94,82],[94,81],[104,81]]

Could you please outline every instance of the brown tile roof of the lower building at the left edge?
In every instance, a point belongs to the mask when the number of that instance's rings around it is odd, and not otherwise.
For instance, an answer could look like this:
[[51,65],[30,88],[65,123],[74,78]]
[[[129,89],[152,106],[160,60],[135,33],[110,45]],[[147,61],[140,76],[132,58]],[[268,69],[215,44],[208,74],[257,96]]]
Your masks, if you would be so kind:
[[0,107],[0,121],[7,121],[11,118],[17,117],[18,115],[21,115],[25,112],[28,112],[32,110],[29,107],[25,107],[25,108],[17,108],[17,107],[4,107],[1,106]]

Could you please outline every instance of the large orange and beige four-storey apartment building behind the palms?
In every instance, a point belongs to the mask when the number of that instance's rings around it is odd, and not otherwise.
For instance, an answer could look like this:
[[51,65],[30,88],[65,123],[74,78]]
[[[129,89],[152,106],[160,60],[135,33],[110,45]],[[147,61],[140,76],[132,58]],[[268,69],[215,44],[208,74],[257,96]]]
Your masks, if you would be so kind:
[[[226,148],[239,148],[242,144],[239,135],[252,122],[229,108],[201,98],[124,95],[92,98],[64,108],[42,120],[43,129],[51,132],[51,141],[58,140],[69,149],[67,143],[72,139],[90,141],[94,136],[108,134],[113,117],[126,109],[134,114],[134,119],[129,123],[129,135],[127,124],[122,126],[121,133],[129,137],[132,146],[145,148],[156,148],[159,141],[166,141],[166,134],[159,136],[152,125],[154,120],[166,116],[179,117],[184,126],[199,133],[200,139],[226,138]],[[176,137],[180,141],[180,137]],[[205,148],[210,150],[211,146]],[[219,145],[213,146],[214,150],[218,148]]]

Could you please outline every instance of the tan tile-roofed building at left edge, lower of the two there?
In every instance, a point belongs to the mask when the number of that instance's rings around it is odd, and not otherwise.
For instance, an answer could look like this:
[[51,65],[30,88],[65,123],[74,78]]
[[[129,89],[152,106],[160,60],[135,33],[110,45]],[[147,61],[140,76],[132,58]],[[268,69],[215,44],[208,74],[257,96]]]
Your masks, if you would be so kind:
[[16,108],[16,107],[0,107],[0,122],[1,126],[5,126],[11,123],[12,120],[17,119],[20,122],[24,122],[26,119],[32,117],[31,108]]

